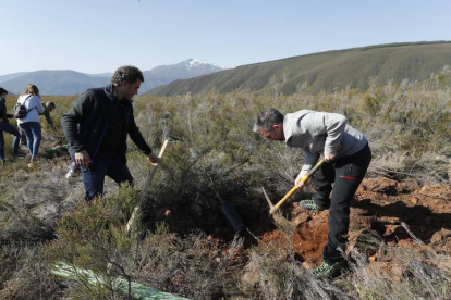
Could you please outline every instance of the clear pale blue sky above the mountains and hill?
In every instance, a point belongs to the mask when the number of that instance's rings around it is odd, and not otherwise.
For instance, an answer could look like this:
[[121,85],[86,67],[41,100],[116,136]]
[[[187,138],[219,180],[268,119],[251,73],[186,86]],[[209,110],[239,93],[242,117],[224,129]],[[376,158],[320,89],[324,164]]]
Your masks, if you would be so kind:
[[451,40],[450,0],[3,0],[0,75],[224,67],[369,45]]

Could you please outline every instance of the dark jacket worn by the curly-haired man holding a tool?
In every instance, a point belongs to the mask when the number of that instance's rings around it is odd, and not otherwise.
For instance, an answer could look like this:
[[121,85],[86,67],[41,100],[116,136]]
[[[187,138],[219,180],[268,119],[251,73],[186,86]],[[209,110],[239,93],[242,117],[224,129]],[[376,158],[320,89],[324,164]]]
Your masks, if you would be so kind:
[[[93,162],[108,130],[112,101],[118,101],[118,99],[112,93],[111,85],[105,88],[88,89],[76,99],[72,109],[61,118],[61,126],[71,147],[75,152],[86,150]],[[122,99],[121,101],[124,101],[125,130],[121,138],[119,154],[126,162],[127,135],[144,154],[150,154],[151,149],[136,126],[132,100]]]

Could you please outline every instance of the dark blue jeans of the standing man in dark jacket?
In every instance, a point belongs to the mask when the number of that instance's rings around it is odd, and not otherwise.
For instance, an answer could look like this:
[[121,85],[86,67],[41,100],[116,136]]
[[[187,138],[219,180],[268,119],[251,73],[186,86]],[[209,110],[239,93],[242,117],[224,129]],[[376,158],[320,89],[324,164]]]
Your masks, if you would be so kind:
[[85,200],[90,201],[96,196],[102,196],[105,176],[108,175],[117,184],[125,183],[133,185],[133,176],[126,164],[119,159],[96,159],[89,168],[81,167],[83,184],[85,185]]

